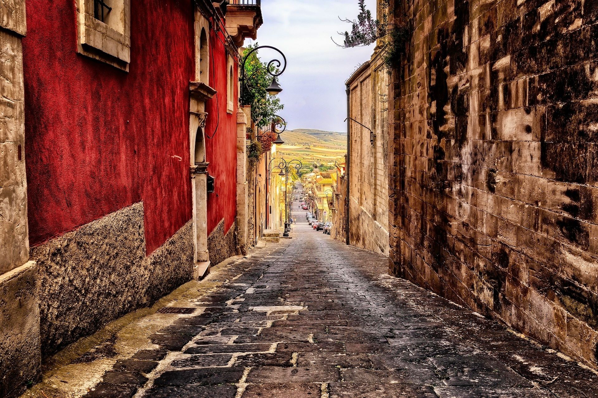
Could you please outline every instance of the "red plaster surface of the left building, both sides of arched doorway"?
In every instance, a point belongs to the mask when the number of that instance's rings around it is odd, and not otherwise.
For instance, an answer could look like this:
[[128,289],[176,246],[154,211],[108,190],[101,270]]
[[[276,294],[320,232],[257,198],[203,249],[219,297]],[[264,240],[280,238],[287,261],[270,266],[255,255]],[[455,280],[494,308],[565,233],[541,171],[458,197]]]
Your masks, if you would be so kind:
[[[73,0],[28,0],[23,64],[32,245],[143,200],[149,254],[191,219],[193,16],[191,0],[132,0],[127,73],[76,53]],[[218,71],[226,69],[219,57],[226,58],[216,46],[213,53],[225,101]],[[234,219],[236,162],[228,162],[236,120],[231,124],[225,109],[207,146],[218,193],[210,198],[210,226],[218,217]]]

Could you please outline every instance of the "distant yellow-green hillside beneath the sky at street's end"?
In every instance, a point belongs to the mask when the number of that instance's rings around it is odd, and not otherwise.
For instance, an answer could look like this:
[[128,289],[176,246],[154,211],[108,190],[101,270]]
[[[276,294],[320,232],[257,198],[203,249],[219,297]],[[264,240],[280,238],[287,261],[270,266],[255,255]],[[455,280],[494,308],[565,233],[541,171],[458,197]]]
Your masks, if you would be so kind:
[[313,163],[333,166],[334,161],[343,161],[347,152],[346,132],[298,128],[285,131],[282,139],[285,143],[276,147],[279,155],[298,159],[306,166]]

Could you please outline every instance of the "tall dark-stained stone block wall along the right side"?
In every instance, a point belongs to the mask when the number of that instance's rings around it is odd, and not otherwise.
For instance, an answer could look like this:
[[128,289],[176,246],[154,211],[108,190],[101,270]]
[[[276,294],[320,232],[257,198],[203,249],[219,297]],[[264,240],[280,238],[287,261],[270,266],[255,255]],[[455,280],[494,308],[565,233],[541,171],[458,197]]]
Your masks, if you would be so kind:
[[596,365],[598,2],[393,3],[390,271]]

